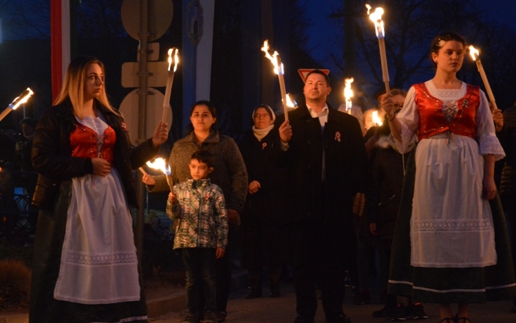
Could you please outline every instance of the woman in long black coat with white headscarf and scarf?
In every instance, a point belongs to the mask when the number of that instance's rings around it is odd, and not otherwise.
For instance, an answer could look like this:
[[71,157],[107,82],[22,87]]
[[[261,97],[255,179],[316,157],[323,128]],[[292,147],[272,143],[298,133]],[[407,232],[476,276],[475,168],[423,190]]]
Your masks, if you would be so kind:
[[279,227],[284,181],[272,158],[277,143],[277,132],[271,131],[275,118],[268,105],[257,107],[252,113],[252,129],[239,143],[249,183],[241,218],[241,260],[249,271],[248,299],[261,297],[263,267],[268,267],[270,297],[279,297],[279,276],[286,264],[286,240]]

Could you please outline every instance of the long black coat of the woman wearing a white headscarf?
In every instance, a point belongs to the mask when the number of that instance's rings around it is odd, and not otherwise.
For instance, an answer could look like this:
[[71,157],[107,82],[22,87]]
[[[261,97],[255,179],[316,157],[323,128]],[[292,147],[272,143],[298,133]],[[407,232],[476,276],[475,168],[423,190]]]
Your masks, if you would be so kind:
[[270,131],[258,141],[249,130],[242,136],[239,149],[246,163],[248,183],[257,180],[260,188],[248,194],[241,213],[241,264],[261,271],[263,266],[286,263],[287,242],[283,224],[283,191],[286,181],[277,168],[277,132]]

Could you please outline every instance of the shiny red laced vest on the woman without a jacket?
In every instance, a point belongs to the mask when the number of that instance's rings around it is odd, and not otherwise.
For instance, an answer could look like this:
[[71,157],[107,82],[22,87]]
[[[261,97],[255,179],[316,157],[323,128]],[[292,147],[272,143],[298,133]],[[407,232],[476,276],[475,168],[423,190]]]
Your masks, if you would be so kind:
[[424,83],[413,85],[416,89],[415,101],[419,112],[419,134],[422,140],[441,132],[473,138],[477,129],[477,108],[480,105],[480,87],[467,85],[466,95],[457,101],[458,111],[455,118],[447,123],[442,112],[442,101],[431,96]]

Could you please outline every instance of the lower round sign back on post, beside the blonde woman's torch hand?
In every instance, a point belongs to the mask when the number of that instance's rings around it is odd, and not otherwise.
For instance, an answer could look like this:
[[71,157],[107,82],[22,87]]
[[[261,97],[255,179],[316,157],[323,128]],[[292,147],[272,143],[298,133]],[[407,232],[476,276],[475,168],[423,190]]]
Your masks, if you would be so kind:
[[[145,116],[145,138],[151,138],[154,130],[160,124],[163,114],[163,99],[164,95],[155,89],[148,88],[153,95],[147,95],[147,116]],[[133,90],[125,96],[124,101],[120,104],[120,113],[124,116],[127,131],[129,131],[129,138],[131,143],[136,145],[138,143],[138,89]],[[169,129],[172,125],[172,110],[166,114],[166,122],[169,123]]]

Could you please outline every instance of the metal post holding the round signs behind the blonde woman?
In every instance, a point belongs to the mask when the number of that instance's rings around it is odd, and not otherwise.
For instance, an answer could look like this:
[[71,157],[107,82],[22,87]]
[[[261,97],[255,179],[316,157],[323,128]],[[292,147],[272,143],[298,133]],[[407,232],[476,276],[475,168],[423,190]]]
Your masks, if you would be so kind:
[[[140,0],[140,87],[138,91],[138,145],[145,140],[145,123],[147,114],[147,39],[149,37],[149,0]],[[136,253],[138,262],[143,260],[143,225],[144,225],[144,183],[142,174],[137,171],[136,194],[138,194],[138,213],[136,216]]]

